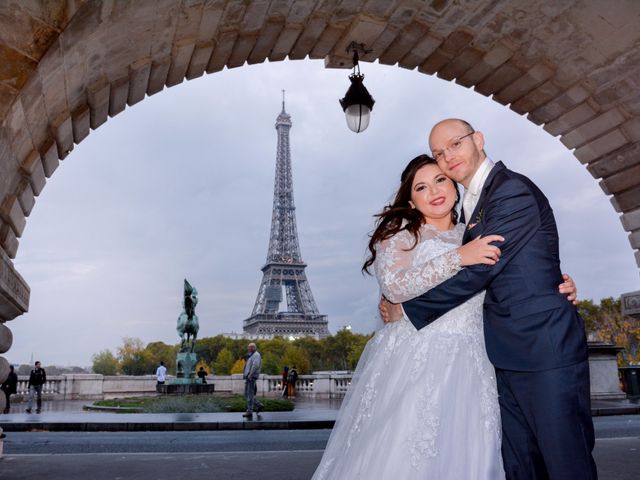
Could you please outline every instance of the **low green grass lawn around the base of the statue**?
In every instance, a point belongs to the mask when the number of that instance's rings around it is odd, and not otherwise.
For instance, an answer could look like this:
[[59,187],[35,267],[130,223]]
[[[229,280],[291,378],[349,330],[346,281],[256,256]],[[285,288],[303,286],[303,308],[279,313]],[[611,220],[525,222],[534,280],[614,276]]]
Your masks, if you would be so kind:
[[[288,412],[293,402],[261,398],[265,412]],[[122,413],[211,413],[244,412],[247,404],[242,395],[163,395],[161,397],[128,397],[94,402],[98,407],[115,407]]]

